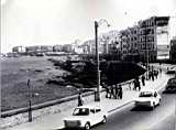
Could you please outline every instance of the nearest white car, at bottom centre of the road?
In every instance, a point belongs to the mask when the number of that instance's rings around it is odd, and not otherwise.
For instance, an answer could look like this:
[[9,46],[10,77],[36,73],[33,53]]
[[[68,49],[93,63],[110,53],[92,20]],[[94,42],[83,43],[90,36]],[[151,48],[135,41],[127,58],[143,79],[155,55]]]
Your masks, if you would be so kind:
[[108,113],[100,107],[81,106],[75,108],[73,116],[64,119],[65,128],[84,128],[89,130],[91,126],[107,122]]

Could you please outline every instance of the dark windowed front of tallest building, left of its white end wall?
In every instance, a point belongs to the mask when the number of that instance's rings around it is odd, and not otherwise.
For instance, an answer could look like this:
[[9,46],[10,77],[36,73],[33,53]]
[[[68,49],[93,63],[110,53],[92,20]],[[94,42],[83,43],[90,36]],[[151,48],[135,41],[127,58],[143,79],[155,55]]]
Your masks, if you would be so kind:
[[139,53],[142,61],[155,61],[157,56],[156,17],[139,22]]

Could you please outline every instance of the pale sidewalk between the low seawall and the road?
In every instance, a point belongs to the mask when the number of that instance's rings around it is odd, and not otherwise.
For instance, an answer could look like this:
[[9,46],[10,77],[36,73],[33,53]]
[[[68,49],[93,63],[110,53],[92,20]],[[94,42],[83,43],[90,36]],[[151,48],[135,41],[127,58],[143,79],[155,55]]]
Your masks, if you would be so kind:
[[[145,86],[146,88],[154,88],[156,90],[163,88],[169,76],[162,74],[158,75],[158,78],[154,82],[146,80]],[[142,88],[144,88],[142,86]],[[133,87],[132,87],[133,88]],[[100,102],[90,102],[91,105],[100,105],[106,111],[111,113],[112,111],[120,109],[121,107],[132,102],[139,95],[139,91],[130,90],[128,86],[123,87],[123,99],[109,99],[106,98],[106,94],[101,94],[101,101]],[[74,109],[74,108],[73,108]],[[64,127],[63,118],[70,116],[73,109],[67,111],[50,115],[43,117],[42,119],[34,120],[33,122],[26,122],[23,124],[15,126],[13,128],[8,128],[6,130],[59,130]]]

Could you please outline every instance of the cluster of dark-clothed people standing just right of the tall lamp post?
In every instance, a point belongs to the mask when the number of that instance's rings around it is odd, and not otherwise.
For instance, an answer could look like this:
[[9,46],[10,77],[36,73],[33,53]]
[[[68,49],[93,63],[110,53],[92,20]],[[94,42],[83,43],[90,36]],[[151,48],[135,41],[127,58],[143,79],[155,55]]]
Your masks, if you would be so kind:
[[122,99],[123,89],[121,85],[106,86],[106,98]]

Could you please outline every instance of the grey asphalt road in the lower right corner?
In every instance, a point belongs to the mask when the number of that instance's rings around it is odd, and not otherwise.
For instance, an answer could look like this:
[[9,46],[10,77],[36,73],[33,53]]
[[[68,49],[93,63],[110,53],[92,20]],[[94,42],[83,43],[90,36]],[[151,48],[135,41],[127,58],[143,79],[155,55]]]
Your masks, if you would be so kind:
[[129,105],[114,111],[106,124],[92,130],[176,130],[176,95],[162,95],[162,104],[153,111]]

